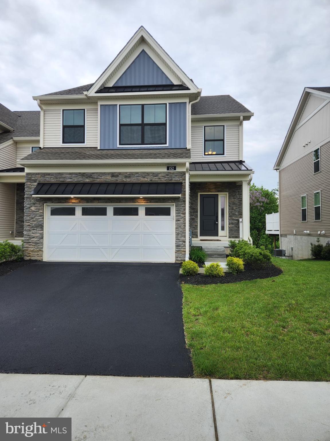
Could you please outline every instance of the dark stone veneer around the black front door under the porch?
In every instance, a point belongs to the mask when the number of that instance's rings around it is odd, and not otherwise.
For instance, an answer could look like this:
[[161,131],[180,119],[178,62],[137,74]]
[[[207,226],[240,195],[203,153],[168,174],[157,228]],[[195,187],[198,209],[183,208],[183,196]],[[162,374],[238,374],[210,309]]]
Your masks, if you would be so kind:
[[239,239],[239,219],[242,218],[242,185],[235,182],[191,182],[189,217],[192,237],[198,237],[198,193],[228,193],[228,235]]

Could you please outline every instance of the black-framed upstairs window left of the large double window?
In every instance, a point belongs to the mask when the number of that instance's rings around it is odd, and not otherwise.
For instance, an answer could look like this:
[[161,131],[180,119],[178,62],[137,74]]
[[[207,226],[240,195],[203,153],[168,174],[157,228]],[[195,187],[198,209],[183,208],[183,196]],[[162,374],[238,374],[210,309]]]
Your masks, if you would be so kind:
[[63,110],[62,143],[84,144],[85,142],[85,110]]

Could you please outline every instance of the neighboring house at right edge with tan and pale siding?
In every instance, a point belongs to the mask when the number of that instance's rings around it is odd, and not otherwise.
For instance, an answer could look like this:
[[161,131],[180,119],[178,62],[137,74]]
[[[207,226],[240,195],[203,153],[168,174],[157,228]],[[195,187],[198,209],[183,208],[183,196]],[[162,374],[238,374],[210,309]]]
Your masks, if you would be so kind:
[[280,247],[311,257],[330,240],[330,87],[306,87],[274,166],[279,172]]

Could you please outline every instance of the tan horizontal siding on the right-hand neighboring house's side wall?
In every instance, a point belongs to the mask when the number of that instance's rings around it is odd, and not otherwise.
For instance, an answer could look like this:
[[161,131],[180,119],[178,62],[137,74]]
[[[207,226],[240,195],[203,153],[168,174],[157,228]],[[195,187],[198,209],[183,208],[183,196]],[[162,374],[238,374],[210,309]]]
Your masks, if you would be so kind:
[[[279,172],[281,234],[330,237],[330,142],[320,147],[320,172],[314,174],[313,152]],[[314,221],[314,192],[321,191],[321,221]],[[307,222],[301,221],[301,196],[307,194]]]

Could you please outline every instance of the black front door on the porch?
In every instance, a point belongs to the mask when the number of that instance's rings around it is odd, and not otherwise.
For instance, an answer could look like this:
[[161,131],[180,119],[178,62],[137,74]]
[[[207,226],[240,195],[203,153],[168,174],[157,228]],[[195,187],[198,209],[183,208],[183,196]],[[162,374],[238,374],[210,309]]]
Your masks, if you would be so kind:
[[199,195],[199,235],[218,236],[218,194]]

